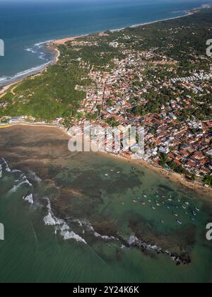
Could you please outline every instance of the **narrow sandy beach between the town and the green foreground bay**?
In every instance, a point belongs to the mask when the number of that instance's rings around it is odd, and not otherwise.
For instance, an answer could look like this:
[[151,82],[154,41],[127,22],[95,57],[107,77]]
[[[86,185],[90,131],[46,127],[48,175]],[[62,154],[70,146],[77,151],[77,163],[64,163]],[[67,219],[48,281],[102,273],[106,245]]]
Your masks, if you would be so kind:
[[[11,127],[16,127],[16,126],[44,127],[47,129],[48,128],[57,129],[58,131],[62,132],[63,134],[65,134],[66,136],[71,138],[71,136],[68,133],[66,128],[64,128],[63,126],[56,125],[56,124],[17,123],[17,124],[10,124],[10,125],[6,125],[6,126],[2,126],[2,127],[0,127],[0,130],[1,129],[9,129]],[[183,187],[187,188],[187,190],[194,191],[201,195],[204,194],[204,196],[206,196],[210,199],[212,198],[211,187],[204,187],[204,185],[199,185],[196,182],[190,182],[189,180],[187,180],[187,178],[184,175],[180,175],[179,173],[175,173],[171,170],[170,171],[165,170],[162,167],[155,166],[155,165],[148,163],[147,161],[143,161],[143,160],[125,158],[124,156],[120,156],[120,155],[117,156],[114,153],[108,153],[106,151],[98,151],[98,153],[101,154],[102,156],[107,156],[107,158],[114,158],[116,160],[119,159],[120,161],[131,163],[132,165],[135,164],[135,165],[143,166],[143,167],[147,168],[148,170],[153,170],[155,173],[158,173],[158,175],[161,175],[161,176],[169,179],[170,181],[175,182],[175,184],[177,184],[177,185],[182,185]]]

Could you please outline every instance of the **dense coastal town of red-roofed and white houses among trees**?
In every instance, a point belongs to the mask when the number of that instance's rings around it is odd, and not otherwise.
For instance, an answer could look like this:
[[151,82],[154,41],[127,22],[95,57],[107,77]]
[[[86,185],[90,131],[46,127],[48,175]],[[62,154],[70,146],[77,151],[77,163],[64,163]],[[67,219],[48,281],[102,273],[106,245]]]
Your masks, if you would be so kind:
[[[140,30],[142,32],[146,28]],[[208,187],[212,180],[210,59],[206,54],[195,52],[191,45],[187,49],[187,57],[192,66],[188,69],[182,66],[175,52],[170,54],[173,36],[184,30],[196,34],[190,25],[158,30],[165,35],[166,50],[155,45],[141,49],[141,44],[146,42],[145,37],[131,30],[65,40],[65,50],[63,42],[57,42],[60,59],[68,59],[74,51],[71,61],[87,74],[87,77],[81,77],[81,81],[90,81],[86,86],[83,83],[75,85],[75,91],[85,94],[77,108],[77,116],[69,117],[68,124],[64,117],[47,122],[42,119],[37,121],[36,117],[29,115],[2,117],[1,124],[56,124],[66,127],[70,135],[71,127],[83,129],[88,120],[90,128],[116,127],[120,133],[127,127],[144,127],[145,161],[182,173],[190,180],[204,182]],[[161,42],[163,44],[164,40]],[[93,52],[93,57],[97,62],[81,54],[83,49],[91,52],[95,49],[97,53]],[[103,64],[100,63],[102,60]],[[24,95],[18,95],[19,100],[23,98]],[[2,98],[0,107],[4,109],[7,105]],[[105,146],[100,150],[108,151],[105,133],[92,136],[92,139],[97,138],[104,139]],[[108,152],[130,159],[135,157],[138,145],[135,137],[128,151],[121,146],[119,150],[112,147]]]

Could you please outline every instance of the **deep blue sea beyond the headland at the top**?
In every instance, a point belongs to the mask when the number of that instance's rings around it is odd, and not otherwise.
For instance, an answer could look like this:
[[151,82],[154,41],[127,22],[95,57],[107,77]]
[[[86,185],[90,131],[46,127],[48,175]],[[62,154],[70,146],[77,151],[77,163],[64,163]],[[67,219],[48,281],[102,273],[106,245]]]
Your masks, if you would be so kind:
[[[182,16],[211,0],[0,0],[0,86],[48,63],[40,42]],[[23,72],[24,71],[24,72]]]

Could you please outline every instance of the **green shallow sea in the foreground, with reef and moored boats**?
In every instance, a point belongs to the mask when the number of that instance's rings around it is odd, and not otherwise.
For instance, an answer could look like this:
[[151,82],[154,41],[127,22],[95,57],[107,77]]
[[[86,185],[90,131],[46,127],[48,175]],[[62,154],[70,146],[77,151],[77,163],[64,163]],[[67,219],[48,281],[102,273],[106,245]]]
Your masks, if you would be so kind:
[[[13,128],[0,142],[25,175],[2,166],[0,281],[212,281],[210,199],[141,165],[70,154],[55,130]],[[165,251],[191,262],[177,266]]]

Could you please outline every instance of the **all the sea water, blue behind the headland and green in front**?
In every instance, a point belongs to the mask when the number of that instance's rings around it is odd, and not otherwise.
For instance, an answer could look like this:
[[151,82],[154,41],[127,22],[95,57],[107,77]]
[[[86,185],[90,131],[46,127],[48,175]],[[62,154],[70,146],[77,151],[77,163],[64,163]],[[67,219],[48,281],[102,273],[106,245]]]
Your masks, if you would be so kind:
[[[0,84],[49,63],[47,40],[206,3],[0,1]],[[212,282],[210,198],[129,161],[70,153],[68,140],[54,128],[0,129],[0,282]]]

